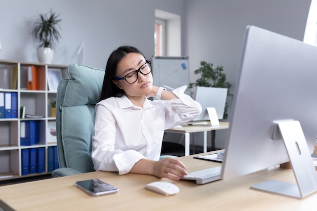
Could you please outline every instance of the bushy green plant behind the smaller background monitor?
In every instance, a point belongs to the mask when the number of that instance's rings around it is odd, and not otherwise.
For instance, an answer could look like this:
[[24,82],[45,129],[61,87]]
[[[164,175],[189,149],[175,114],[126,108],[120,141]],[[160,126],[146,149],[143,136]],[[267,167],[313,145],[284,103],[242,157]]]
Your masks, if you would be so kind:
[[[195,70],[195,74],[201,74],[201,77],[196,80],[196,82],[190,82],[189,88],[193,87],[217,87],[217,88],[227,88],[227,96],[233,96],[230,93],[231,83],[226,81],[226,74],[223,72],[223,66],[217,66],[213,68],[212,63],[207,63],[206,61],[201,61],[199,69]],[[225,104],[223,118],[228,117],[228,104]]]

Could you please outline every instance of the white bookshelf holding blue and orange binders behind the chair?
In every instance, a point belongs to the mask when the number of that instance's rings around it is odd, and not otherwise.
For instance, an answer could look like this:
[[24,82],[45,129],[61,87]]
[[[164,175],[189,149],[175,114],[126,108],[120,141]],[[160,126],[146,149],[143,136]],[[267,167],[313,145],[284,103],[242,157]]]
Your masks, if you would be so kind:
[[[37,69],[38,83],[35,90],[29,90],[28,87],[28,67],[33,65]],[[52,169],[49,167],[51,161],[51,149],[56,148],[56,135],[52,133],[51,128],[54,127],[56,119],[51,117],[50,99],[56,99],[56,90],[51,91],[48,85],[49,71],[60,71],[62,78],[68,78],[68,65],[41,64],[0,60],[0,97],[6,93],[15,93],[12,96],[17,96],[16,117],[0,117],[0,181],[32,177],[43,174],[50,174]],[[3,93],[3,94],[1,94]],[[4,105],[6,106],[6,105]],[[36,118],[20,118],[20,107],[25,107],[25,113],[37,116]],[[12,109],[15,107],[12,101]],[[0,98],[1,108],[1,98]],[[0,110],[1,111],[1,110]],[[1,114],[0,114],[1,115]],[[38,128],[36,130],[37,142],[33,145],[21,144],[21,122],[36,121]],[[25,173],[23,168],[26,163],[23,160],[25,149],[29,151],[44,151],[44,169]],[[33,154],[34,155],[34,154]],[[31,165],[32,158],[29,154],[29,164]],[[37,156],[37,155],[36,155]],[[36,157],[37,161],[37,157]],[[56,167],[56,166],[55,166]]]

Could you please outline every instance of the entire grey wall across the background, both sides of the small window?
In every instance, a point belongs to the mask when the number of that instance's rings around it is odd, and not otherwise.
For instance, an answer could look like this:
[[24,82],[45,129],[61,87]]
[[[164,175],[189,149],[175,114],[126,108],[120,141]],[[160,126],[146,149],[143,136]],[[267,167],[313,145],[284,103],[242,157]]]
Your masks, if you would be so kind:
[[[53,63],[77,63],[83,42],[85,64],[93,67],[104,68],[109,54],[125,44],[150,58],[154,10],[160,9],[181,16],[181,53],[189,56],[190,80],[205,60],[224,66],[234,92],[246,26],[302,40],[309,6],[310,0],[0,0],[0,59],[37,62],[30,22],[50,8],[63,19]],[[220,148],[225,133],[217,132]]]

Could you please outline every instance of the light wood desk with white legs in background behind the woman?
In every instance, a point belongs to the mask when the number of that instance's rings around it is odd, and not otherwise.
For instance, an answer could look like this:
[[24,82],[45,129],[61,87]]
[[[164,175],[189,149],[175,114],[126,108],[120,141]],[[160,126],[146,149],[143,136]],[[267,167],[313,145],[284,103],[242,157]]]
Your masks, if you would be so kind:
[[[189,155],[189,144],[190,144],[190,133],[204,132],[204,152],[207,152],[207,132],[216,131],[222,129],[228,129],[229,122],[220,121],[219,126],[210,125],[182,125],[182,128],[171,128],[165,130],[166,132],[181,133],[185,135],[185,156]],[[215,135],[213,135],[211,140],[211,146],[215,147]]]

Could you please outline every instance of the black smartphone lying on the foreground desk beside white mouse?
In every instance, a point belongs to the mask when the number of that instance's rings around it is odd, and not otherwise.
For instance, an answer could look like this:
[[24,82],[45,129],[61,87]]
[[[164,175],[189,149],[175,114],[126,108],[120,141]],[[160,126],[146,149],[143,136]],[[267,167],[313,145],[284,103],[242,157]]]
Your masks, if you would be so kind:
[[101,196],[118,192],[118,188],[99,179],[77,181],[74,186],[80,188],[91,196]]

